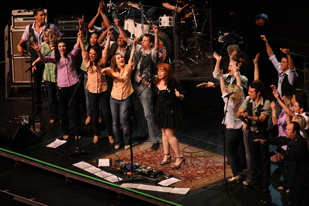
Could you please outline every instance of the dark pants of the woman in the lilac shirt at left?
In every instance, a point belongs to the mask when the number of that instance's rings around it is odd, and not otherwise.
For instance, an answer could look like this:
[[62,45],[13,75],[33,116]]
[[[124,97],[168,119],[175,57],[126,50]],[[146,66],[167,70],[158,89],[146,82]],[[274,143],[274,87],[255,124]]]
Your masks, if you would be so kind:
[[[77,84],[68,87],[59,87],[57,86],[57,93],[59,98],[59,115],[61,120],[61,128],[63,130],[64,135],[70,134],[69,129],[69,116],[68,116],[68,104],[69,100],[72,98],[73,93],[77,87]],[[78,91],[78,89],[77,89]],[[80,136],[80,126],[81,126],[81,118],[80,118],[80,110],[79,110],[79,96],[78,92],[74,95],[71,104],[73,104],[73,126],[75,128],[75,136]]]

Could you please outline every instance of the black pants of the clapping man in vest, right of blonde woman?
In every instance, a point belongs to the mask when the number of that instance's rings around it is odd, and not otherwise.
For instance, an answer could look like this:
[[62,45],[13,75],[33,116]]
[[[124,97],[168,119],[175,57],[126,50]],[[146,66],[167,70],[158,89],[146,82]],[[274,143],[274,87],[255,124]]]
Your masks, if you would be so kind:
[[[256,185],[261,183],[260,175],[262,176],[262,184],[270,185],[270,158],[269,158],[269,146],[263,145],[258,142],[253,141],[254,139],[268,137],[268,132],[263,136],[253,135],[249,132],[248,144],[251,156],[251,168],[252,168],[252,182]],[[259,154],[261,157],[259,157]],[[260,168],[261,161],[261,168]]]

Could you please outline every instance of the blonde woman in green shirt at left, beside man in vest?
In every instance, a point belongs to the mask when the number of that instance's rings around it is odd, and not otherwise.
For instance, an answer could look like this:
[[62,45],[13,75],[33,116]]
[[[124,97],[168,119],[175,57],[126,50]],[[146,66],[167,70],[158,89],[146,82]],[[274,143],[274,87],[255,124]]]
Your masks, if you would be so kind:
[[[41,53],[43,56],[52,57],[55,55],[55,45],[57,43],[57,36],[54,29],[46,28],[43,30],[43,40]],[[40,58],[36,59],[32,65],[37,64]],[[39,65],[37,65],[39,67]],[[40,64],[44,66],[44,64]],[[36,69],[34,66],[33,69]],[[57,67],[53,63],[45,64],[43,73],[44,81],[46,83],[48,92],[48,104],[49,104],[49,119],[50,123],[54,123],[58,116],[59,103],[57,100]]]

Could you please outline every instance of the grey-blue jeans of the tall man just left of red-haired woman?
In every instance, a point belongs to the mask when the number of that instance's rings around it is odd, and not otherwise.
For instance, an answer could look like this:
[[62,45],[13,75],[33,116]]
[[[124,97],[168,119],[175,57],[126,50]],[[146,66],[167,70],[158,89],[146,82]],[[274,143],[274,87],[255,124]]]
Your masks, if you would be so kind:
[[[141,84],[134,81],[133,83],[133,99],[135,99],[139,93],[145,88],[146,84]],[[151,88],[147,87],[141,96],[134,102],[134,112],[138,121],[139,136],[146,136],[149,132],[150,139],[153,143],[159,142],[159,132],[154,125],[154,106],[152,100]],[[147,121],[147,125],[146,125]],[[148,126],[148,131],[147,131]]]

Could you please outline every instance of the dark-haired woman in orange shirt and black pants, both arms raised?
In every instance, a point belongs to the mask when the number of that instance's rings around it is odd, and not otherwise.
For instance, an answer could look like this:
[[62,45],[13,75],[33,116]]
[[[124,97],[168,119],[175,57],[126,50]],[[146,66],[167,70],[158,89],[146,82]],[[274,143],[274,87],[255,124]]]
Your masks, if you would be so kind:
[[107,89],[107,82],[104,75],[101,73],[102,68],[105,68],[107,58],[108,58],[108,48],[109,40],[111,37],[111,32],[108,33],[107,43],[105,49],[101,50],[99,46],[92,46],[87,52],[85,45],[82,41],[82,34],[78,34],[82,60],[86,66],[88,81],[86,89],[88,89],[88,99],[90,103],[90,108],[92,111],[92,126],[93,126],[93,143],[97,143],[100,130],[99,130],[99,105],[102,107],[102,113],[106,125],[106,131],[110,143],[114,143],[115,140],[112,136],[112,117],[109,106],[109,90]]

